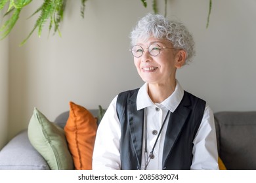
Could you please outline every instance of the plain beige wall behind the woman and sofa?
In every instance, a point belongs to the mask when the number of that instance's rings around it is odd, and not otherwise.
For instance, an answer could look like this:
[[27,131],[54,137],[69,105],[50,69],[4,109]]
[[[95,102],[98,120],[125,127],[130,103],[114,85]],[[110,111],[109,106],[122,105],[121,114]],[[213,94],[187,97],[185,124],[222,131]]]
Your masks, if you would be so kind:
[[[162,1],[161,1],[162,2]],[[129,33],[147,12],[139,0],[89,0],[85,18],[80,1],[68,1],[58,35],[30,33],[39,1],[23,12],[9,44],[9,138],[28,126],[33,107],[49,120],[74,101],[87,108],[108,107],[113,97],[142,84],[129,53]],[[163,5],[160,3],[161,13]],[[33,9],[32,9],[33,8]],[[255,110],[256,3],[216,0],[206,29],[209,1],[168,1],[167,16],[188,26],[196,41],[194,62],[177,78],[205,99],[214,112]]]

